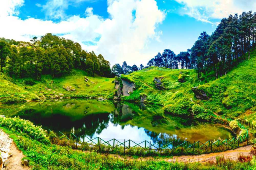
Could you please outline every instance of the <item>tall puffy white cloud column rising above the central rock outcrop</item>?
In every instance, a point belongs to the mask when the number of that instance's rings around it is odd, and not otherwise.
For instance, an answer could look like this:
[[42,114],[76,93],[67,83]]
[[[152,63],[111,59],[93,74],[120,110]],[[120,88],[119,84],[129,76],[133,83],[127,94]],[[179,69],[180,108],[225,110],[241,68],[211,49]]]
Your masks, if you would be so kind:
[[159,36],[155,29],[165,14],[154,0],[110,0],[108,3],[111,19],[105,20],[98,30],[101,38],[97,51],[107,55],[111,63],[124,60],[128,64],[145,63],[153,57],[152,53],[145,52],[147,42]]

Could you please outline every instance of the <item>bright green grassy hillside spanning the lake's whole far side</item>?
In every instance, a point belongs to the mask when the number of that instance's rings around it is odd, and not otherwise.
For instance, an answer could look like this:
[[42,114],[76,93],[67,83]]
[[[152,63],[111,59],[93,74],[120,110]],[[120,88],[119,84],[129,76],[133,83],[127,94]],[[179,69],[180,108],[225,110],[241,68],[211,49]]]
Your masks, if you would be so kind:
[[[197,79],[196,70],[149,67],[121,79],[135,83],[136,89],[130,96],[122,96],[124,101],[140,101],[141,95],[147,96],[147,103],[161,105],[173,115],[190,116],[195,104],[218,114],[239,116],[246,110],[255,110],[256,50],[251,51],[250,60],[243,61],[225,76],[215,80],[213,73]],[[254,63],[254,65],[253,65]],[[85,76],[89,79],[85,81]],[[164,89],[159,90],[154,78],[161,80]],[[115,78],[96,75],[87,76],[82,70],[74,69],[68,76],[52,78],[43,75],[41,81],[31,78],[11,79],[0,76],[0,102],[42,101],[45,98],[94,98],[113,99]],[[31,83],[32,82],[32,83]],[[209,100],[199,100],[192,87],[203,90]],[[75,91],[67,91],[70,87]]]

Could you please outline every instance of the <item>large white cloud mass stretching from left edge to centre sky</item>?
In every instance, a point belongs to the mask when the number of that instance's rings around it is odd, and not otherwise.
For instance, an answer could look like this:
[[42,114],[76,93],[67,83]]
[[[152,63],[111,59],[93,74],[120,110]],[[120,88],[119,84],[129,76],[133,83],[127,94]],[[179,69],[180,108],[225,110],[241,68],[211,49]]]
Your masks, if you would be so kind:
[[88,7],[86,17],[75,15],[58,23],[35,18],[21,20],[14,16],[23,4],[20,2],[9,5],[8,12],[1,15],[0,23],[8,27],[0,27],[0,37],[29,41],[46,33],[61,35],[79,42],[87,51],[101,53],[112,64],[124,60],[130,65],[145,64],[152,58],[154,54],[147,52],[147,43],[152,39],[160,41],[162,32],[156,32],[156,27],[165,18],[155,0],[108,0],[109,19],[93,14],[93,8]]

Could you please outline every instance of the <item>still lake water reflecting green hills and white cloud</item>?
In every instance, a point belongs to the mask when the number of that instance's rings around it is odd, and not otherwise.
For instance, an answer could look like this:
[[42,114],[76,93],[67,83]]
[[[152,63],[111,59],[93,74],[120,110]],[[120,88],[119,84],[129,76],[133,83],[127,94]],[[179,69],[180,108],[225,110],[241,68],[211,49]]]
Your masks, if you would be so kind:
[[[8,108],[10,107],[10,108]],[[8,109],[7,109],[8,108]],[[16,108],[16,109],[14,109]],[[18,109],[17,109],[18,108]],[[231,138],[232,132],[221,125],[196,123],[164,116],[161,108],[131,103],[96,100],[63,100],[33,104],[0,105],[0,114],[19,116],[44,129],[63,133],[85,134],[89,138],[131,139],[170,142],[202,141]],[[4,112],[8,110],[9,112]],[[10,114],[12,113],[12,114]]]

